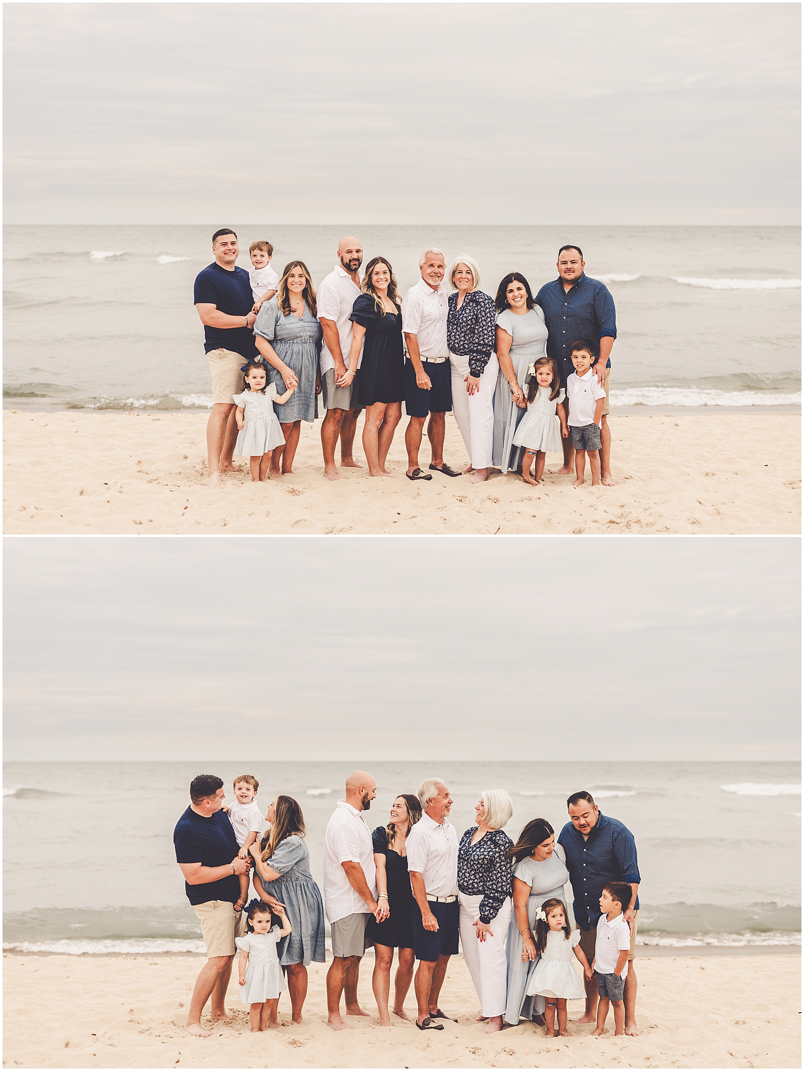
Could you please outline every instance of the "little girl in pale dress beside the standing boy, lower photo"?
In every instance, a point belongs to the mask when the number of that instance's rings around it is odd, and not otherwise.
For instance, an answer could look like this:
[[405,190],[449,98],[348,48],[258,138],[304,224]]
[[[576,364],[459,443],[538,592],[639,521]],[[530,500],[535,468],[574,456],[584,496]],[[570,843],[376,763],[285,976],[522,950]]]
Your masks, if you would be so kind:
[[592,968],[578,947],[580,930],[572,931],[566,921],[564,905],[557,897],[546,900],[536,915],[535,944],[541,959],[531,975],[528,996],[545,997],[545,1036],[556,1037],[555,1015],[558,1008],[559,1036],[568,1038],[566,1032],[566,1001],[582,1000],[586,990],[573,968],[573,952],[583,967],[583,977],[592,978]]

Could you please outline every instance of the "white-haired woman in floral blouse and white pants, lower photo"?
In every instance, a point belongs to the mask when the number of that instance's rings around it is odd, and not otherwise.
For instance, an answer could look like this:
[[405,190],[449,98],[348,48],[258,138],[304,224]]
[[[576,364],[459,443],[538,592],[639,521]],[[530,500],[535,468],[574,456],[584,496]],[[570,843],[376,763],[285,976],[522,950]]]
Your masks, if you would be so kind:
[[505,1011],[513,842],[502,827],[513,813],[506,791],[485,789],[474,809],[477,825],[458,847],[460,944],[480,997],[480,1020],[488,1021],[486,1034],[502,1029]]

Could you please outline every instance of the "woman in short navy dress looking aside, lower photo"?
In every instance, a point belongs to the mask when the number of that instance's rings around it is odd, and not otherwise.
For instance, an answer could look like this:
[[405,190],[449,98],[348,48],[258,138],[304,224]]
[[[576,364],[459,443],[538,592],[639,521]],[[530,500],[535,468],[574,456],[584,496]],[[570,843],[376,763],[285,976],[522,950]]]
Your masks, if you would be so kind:
[[[358,299],[360,300],[360,299]],[[391,964],[394,949],[399,949],[399,966],[394,976],[394,1014],[408,1019],[405,997],[413,979],[413,890],[408,874],[405,844],[411,827],[422,817],[419,797],[407,793],[397,796],[391,808],[388,826],[378,826],[371,834],[377,865],[377,902],[388,904],[389,916],[377,922],[373,915],[366,925],[366,941],[374,942],[371,989],[380,1013],[380,1026],[390,1026],[388,1000],[391,992]]]

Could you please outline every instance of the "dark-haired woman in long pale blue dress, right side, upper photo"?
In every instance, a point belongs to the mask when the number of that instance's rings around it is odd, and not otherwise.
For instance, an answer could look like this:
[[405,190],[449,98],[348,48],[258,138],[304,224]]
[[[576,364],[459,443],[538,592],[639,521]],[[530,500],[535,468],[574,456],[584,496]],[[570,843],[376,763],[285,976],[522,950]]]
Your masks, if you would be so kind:
[[547,327],[544,313],[533,301],[528,280],[519,272],[504,276],[497,289],[496,304],[500,375],[495,391],[491,464],[504,474],[521,464],[522,448],[514,446],[514,433],[527,410],[528,365],[545,356]]

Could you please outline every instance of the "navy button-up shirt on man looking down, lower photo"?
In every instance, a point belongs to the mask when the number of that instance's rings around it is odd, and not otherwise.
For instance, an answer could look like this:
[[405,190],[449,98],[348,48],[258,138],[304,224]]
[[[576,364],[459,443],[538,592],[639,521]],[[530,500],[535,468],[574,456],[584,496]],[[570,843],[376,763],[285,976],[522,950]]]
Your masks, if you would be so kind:
[[[601,893],[608,881],[639,883],[634,834],[617,818],[597,816],[587,840],[571,821],[559,834],[573,887],[573,914],[581,930],[594,930],[601,917]],[[623,910],[627,907],[623,904]],[[639,909],[639,896],[634,910]]]

